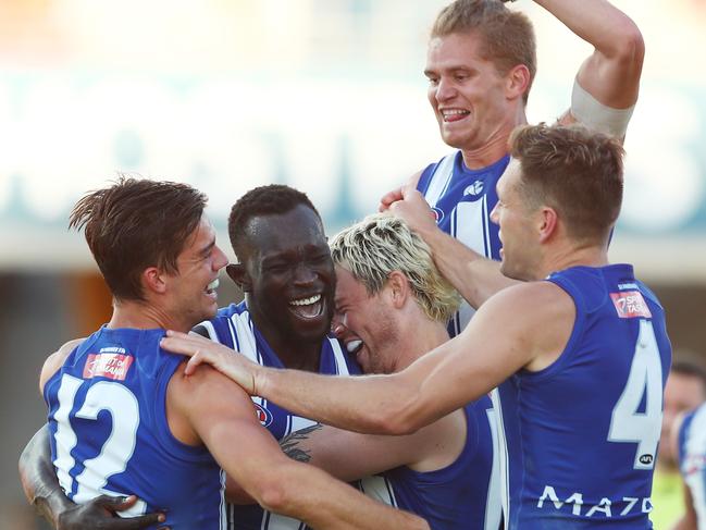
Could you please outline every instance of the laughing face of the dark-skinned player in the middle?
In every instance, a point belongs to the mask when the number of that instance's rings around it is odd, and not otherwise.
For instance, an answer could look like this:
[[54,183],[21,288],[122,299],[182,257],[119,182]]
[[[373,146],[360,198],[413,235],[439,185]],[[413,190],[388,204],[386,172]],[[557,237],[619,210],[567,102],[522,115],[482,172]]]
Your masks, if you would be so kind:
[[248,305],[257,325],[282,337],[321,341],[333,315],[335,275],[317,213],[298,205],[283,214],[256,217],[246,231]]

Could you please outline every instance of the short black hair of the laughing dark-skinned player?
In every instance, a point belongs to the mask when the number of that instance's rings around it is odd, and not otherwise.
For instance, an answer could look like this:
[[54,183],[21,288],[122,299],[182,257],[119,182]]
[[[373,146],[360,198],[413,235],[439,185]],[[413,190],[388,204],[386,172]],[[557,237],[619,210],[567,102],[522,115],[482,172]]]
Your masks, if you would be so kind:
[[299,205],[311,208],[321,219],[307,194],[284,184],[259,186],[246,193],[233,205],[228,215],[228,236],[235,255],[240,257],[245,229],[252,218],[287,213]]

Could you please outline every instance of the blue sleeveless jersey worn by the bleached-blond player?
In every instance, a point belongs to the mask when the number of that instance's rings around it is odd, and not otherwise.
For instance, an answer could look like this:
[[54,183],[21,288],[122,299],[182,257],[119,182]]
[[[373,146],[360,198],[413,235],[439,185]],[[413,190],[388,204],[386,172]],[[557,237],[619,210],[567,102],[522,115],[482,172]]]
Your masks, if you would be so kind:
[[428,472],[401,466],[363,479],[361,490],[423,517],[433,530],[498,530],[500,477],[493,457],[497,435],[493,405],[483,396],[463,411],[466,445],[456,461]]

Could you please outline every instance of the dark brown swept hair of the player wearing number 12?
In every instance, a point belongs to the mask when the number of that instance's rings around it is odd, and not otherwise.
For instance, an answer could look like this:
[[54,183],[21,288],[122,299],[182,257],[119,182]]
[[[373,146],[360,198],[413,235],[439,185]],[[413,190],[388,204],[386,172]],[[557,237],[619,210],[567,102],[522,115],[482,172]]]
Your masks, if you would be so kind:
[[203,215],[207,197],[187,184],[120,176],[89,192],[70,217],[116,299],[144,300],[148,267],[176,272],[176,258]]

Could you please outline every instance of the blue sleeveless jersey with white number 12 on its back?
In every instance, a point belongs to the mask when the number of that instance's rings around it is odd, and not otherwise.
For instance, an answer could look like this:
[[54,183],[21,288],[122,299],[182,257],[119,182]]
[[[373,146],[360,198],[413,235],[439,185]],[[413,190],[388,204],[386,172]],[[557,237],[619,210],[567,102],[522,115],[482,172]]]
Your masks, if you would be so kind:
[[139,503],[121,515],[163,509],[170,528],[224,529],[225,473],[166,421],[166,385],[184,357],[163,352],[163,336],[103,326],[47,382],[57,477],[75,503],[135,494]]

